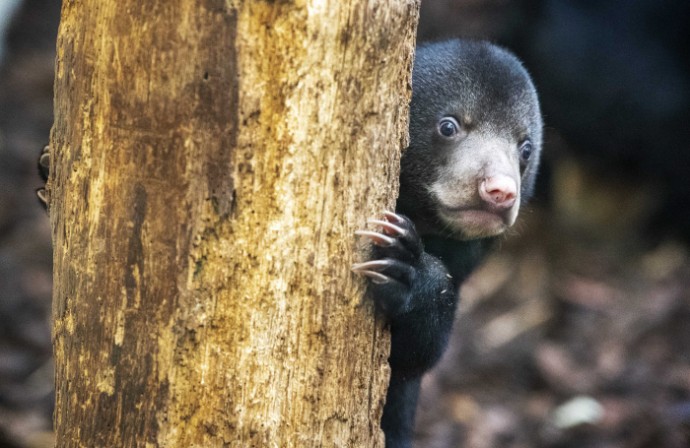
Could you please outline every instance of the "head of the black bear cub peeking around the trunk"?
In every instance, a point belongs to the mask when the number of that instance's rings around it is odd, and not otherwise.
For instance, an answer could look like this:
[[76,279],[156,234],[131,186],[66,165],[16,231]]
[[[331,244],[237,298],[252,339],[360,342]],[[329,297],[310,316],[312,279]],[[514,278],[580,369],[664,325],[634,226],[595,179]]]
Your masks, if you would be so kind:
[[[413,74],[399,204],[432,231],[499,235],[532,194],[542,139],[536,91],[517,59],[495,47],[428,48]],[[435,65],[446,50],[455,63]]]

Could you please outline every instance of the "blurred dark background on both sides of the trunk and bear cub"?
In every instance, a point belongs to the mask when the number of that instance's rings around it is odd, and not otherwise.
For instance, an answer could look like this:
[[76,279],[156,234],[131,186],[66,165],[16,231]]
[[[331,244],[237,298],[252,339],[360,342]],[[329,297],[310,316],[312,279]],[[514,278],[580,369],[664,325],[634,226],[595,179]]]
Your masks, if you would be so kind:
[[[0,0],[0,448],[52,446],[51,249],[34,190],[58,0]],[[690,1],[422,0],[420,42],[525,62],[537,198],[462,288],[420,448],[690,446]]]

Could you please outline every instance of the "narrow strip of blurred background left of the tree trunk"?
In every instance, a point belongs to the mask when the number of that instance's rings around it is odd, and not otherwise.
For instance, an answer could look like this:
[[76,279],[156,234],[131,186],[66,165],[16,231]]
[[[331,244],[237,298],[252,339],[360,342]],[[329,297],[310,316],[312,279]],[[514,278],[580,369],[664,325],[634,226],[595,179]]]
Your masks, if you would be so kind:
[[52,252],[36,154],[53,122],[58,0],[0,0],[0,448],[52,445]]

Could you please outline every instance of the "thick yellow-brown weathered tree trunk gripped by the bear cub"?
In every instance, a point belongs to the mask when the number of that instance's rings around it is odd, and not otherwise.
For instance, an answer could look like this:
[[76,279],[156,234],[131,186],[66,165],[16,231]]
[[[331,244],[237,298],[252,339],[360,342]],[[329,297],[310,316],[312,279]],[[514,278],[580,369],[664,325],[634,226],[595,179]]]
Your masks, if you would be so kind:
[[415,0],[64,0],[58,446],[382,446],[350,273],[394,204]]

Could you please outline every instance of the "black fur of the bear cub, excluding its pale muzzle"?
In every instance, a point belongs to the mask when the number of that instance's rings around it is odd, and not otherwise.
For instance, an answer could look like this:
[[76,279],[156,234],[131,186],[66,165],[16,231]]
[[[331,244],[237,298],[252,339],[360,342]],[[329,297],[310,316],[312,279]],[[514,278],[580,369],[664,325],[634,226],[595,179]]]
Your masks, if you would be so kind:
[[[488,148],[502,142],[500,158],[510,160],[518,203],[524,202],[534,186],[542,138],[529,76],[512,54],[490,44],[453,40],[418,48],[412,91],[410,146],[401,161],[396,214],[374,221],[380,231],[360,232],[372,240],[373,261],[353,268],[371,278],[370,294],[390,322],[391,382],[381,424],[387,448],[411,446],[420,379],[445,350],[458,288],[503,231],[484,235],[442,216],[439,197],[449,185],[476,190],[473,186],[488,176],[484,171],[492,170],[489,161],[477,171],[462,172],[454,157],[476,151],[468,145]],[[439,120],[449,116],[462,129],[444,137]],[[524,153],[529,159],[521,161],[519,148],[527,140],[531,155]],[[458,179],[452,179],[456,172]],[[451,180],[442,183],[443,176]],[[476,191],[447,193],[463,198],[452,204],[458,209],[488,207]]]

